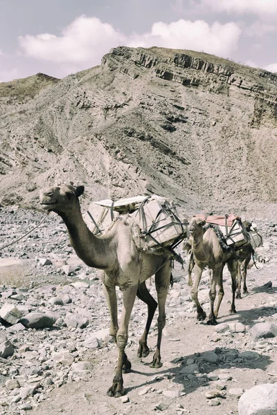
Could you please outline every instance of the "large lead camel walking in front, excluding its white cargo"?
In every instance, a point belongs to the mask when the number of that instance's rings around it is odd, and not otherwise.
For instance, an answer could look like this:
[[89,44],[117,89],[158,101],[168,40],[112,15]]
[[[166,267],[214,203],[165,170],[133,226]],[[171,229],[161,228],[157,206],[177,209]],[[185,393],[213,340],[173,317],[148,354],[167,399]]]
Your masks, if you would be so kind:
[[[125,394],[123,371],[131,369],[125,346],[136,295],[148,305],[148,319],[139,340],[138,356],[146,357],[150,353],[147,344],[148,332],[158,306],[157,348],[150,367],[158,368],[162,365],[160,349],[162,331],[166,324],[165,304],[170,284],[171,255],[167,252],[163,255],[153,255],[139,251],[132,240],[130,227],[123,218],[114,221],[105,235],[96,237],[82,218],[78,198],[83,192],[84,186],[49,187],[41,191],[40,204],[44,210],[55,212],[62,218],[69,233],[71,246],[84,264],[103,271],[102,286],[111,317],[110,335],[118,347],[116,374],[107,394],[117,398]],[[152,275],[155,275],[158,303],[145,285],[146,279]],[[123,309],[119,326],[116,286],[123,291]]]

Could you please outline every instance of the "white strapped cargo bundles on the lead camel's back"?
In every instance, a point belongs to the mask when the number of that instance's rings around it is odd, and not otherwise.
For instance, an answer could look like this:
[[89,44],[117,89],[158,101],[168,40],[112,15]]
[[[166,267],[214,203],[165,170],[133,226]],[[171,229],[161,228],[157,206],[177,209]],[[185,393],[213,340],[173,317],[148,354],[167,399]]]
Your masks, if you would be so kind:
[[188,221],[179,218],[174,203],[155,194],[93,202],[84,220],[91,232],[101,235],[120,215],[126,215],[131,227],[133,224],[139,227],[141,241],[137,245],[143,250],[173,249],[187,234]]

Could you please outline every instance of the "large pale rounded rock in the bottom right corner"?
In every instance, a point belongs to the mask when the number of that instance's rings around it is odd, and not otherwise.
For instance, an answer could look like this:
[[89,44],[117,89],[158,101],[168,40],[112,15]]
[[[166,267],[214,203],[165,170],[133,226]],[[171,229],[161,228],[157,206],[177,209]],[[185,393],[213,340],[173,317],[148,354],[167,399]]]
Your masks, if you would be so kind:
[[277,383],[254,386],[240,397],[239,415],[276,415]]

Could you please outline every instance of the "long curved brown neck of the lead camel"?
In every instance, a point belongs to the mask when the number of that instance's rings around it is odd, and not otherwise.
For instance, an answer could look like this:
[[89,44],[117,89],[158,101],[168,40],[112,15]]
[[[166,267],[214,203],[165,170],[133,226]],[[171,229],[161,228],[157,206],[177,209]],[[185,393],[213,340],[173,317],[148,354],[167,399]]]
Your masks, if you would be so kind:
[[69,232],[72,248],[84,264],[98,269],[107,269],[110,264],[109,239],[98,238],[87,228],[80,206],[70,214],[60,214]]

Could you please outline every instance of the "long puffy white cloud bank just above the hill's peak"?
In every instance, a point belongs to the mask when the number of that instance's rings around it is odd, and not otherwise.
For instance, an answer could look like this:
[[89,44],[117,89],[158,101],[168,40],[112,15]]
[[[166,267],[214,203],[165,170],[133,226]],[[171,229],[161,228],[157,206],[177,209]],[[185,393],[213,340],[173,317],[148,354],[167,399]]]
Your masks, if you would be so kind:
[[19,37],[19,44],[24,55],[54,62],[64,76],[67,65],[75,71],[98,65],[110,48],[123,45],[203,50],[230,57],[238,46],[240,33],[240,28],[233,22],[220,24],[216,21],[209,26],[202,20],[180,19],[170,24],[160,21],[154,23],[148,33],[127,36],[96,17],[82,15],[64,28],[60,36],[51,33],[26,35]]

